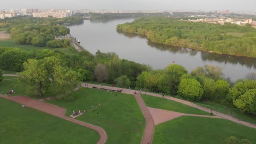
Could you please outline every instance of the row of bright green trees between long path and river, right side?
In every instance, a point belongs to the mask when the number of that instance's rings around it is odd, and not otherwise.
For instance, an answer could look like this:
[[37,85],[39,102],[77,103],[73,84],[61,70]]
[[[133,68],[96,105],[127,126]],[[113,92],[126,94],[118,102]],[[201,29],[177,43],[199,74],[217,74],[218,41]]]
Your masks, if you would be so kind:
[[[197,67],[190,74],[181,65],[171,64],[164,70],[143,71],[137,77],[137,88],[178,95],[184,99],[212,100],[256,115],[256,81],[231,83],[222,69],[214,65]],[[234,85],[232,87],[232,85]]]

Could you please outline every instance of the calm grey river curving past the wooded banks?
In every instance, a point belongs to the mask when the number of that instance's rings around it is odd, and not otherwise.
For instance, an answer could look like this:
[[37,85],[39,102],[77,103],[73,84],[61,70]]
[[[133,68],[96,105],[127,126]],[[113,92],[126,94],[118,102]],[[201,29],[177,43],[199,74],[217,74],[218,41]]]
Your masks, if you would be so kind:
[[204,65],[222,67],[225,77],[232,81],[245,78],[256,71],[256,58],[218,55],[216,53],[191,50],[183,47],[166,46],[148,41],[142,35],[119,33],[116,26],[133,19],[112,21],[89,21],[71,26],[71,34],[91,53],[115,52],[120,58],[150,65],[153,69],[164,69],[168,64],[183,65],[189,71]]

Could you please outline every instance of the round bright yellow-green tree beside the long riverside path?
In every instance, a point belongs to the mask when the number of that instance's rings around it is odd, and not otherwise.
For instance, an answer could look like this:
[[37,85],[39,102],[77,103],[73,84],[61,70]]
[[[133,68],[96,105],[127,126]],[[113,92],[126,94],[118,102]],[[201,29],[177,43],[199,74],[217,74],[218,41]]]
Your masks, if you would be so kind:
[[195,79],[183,79],[179,83],[178,95],[189,100],[200,100],[203,88]]

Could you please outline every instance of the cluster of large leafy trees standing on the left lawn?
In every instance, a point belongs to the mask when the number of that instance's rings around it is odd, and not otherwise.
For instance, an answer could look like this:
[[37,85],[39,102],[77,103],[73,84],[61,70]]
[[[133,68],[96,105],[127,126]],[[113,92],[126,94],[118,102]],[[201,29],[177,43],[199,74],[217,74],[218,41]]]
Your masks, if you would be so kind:
[[79,86],[79,73],[61,64],[60,55],[44,59],[28,59],[19,81],[28,95],[42,97],[52,91],[58,98],[73,99],[73,89]]

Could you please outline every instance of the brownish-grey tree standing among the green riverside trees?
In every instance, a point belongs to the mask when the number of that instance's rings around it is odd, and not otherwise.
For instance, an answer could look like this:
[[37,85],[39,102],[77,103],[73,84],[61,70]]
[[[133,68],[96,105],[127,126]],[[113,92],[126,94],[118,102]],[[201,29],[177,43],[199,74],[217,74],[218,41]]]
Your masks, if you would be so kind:
[[101,63],[98,64],[97,67],[95,68],[94,74],[97,81],[99,82],[103,82],[108,79],[108,73],[107,73],[106,67]]

